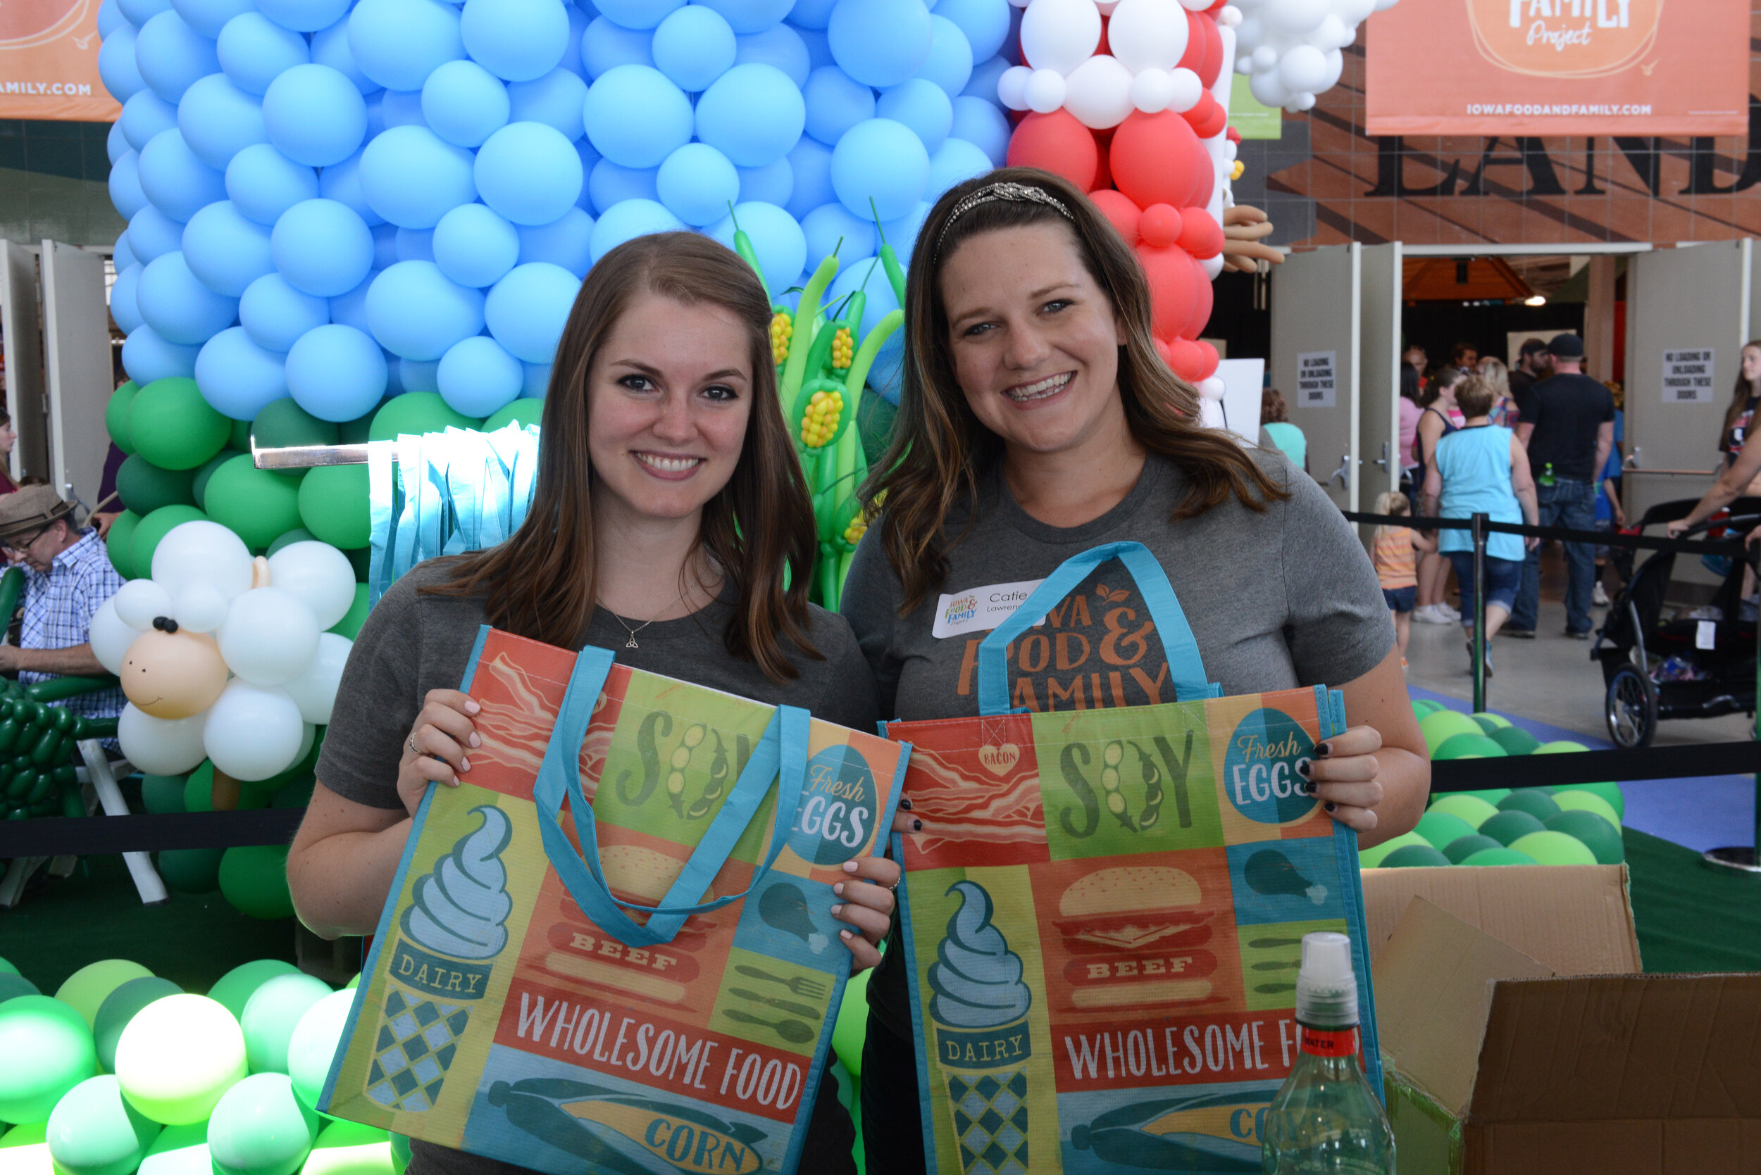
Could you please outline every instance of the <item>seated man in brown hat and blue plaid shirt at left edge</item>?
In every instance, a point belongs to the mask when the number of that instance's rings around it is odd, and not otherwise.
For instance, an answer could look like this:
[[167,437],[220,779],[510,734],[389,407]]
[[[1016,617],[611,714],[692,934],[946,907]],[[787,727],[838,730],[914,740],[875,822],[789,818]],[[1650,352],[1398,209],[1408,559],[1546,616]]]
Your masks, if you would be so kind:
[[[25,624],[18,647],[0,644],[0,672],[23,682],[46,677],[100,677],[92,653],[92,617],[122,589],[122,575],[90,526],[74,524],[74,507],[49,485],[26,485],[0,498],[0,549],[25,568]],[[99,690],[63,705],[86,718],[122,712],[122,690]]]

